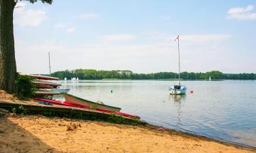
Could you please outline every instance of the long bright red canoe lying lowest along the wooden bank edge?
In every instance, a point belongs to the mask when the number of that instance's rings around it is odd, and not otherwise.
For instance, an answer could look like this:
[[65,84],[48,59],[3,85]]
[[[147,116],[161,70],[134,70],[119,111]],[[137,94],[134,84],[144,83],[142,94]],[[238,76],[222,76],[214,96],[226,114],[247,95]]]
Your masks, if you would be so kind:
[[[47,102],[47,103],[52,103],[52,104],[55,104],[55,105],[65,105],[65,106],[69,106],[69,107],[76,107],[76,108],[81,108],[81,109],[94,109],[88,105],[79,105],[79,104],[76,104],[76,103],[70,103],[68,101],[53,101],[53,100],[49,100],[49,99],[39,99],[39,98],[34,98],[34,100],[36,101],[44,101],[44,102]],[[121,115],[121,116],[126,116],[126,117],[132,117],[132,118],[140,118],[139,116],[134,116],[134,115],[131,115],[131,114],[126,114],[126,113],[123,113],[123,112],[115,112],[115,111],[110,111],[110,110],[106,110],[106,109],[99,109],[99,108],[96,108],[94,109],[98,112],[104,112],[104,113],[108,113],[108,114],[117,114],[117,115]]]

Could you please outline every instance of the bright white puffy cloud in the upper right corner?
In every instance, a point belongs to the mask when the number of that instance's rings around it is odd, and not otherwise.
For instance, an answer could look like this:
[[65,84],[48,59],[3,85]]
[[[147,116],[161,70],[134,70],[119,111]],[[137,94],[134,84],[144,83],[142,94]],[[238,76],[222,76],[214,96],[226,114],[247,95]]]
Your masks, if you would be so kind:
[[229,9],[227,12],[227,18],[237,20],[254,20],[256,19],[256,13],[251,12],[253,10],[253,5],[248,5],[247,7],[234,7]]

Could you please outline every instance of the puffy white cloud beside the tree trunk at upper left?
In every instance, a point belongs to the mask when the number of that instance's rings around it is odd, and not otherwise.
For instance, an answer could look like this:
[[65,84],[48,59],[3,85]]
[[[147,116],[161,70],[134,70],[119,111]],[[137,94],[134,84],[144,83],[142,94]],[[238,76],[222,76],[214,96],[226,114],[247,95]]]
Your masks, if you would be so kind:
[[46,20],[46,12],[42,10],[26,10],[26,3],[19,2],[14,9],[14,23],[21,27],[38,27]]

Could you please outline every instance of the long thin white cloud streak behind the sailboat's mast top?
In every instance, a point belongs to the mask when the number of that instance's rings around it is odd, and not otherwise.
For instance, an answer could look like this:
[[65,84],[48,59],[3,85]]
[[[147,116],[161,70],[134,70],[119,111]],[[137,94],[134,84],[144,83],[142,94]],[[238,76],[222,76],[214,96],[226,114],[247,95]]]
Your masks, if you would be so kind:
[[[167,39],[171,40],[176,38],[177,36],[167,37]],[[219,41],[223,39],[228,39],[232,37],[227,34],[212,34],[212,35],[180,35],[181,41],[195,41],[195,42],[207,42],[207,41]]]

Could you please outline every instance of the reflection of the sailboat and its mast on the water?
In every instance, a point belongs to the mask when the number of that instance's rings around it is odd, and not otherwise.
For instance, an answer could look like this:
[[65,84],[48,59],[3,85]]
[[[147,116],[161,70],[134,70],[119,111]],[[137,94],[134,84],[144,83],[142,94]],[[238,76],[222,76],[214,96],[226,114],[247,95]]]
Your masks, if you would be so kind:
[[182,101],[186,99],[186,95],[170,95],[169,97],[173,101],[175,108],[177,109],[177,123],[176,126],[179,127],[181,123],[182,115]]

